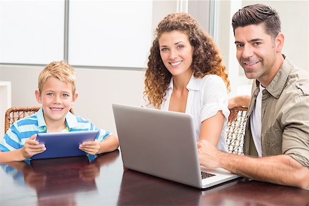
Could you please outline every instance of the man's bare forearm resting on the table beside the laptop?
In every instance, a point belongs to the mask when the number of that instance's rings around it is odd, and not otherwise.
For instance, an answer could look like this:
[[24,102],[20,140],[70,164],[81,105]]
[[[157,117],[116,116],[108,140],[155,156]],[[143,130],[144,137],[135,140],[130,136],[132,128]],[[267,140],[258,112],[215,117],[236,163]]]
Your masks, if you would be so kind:
[[305,188],[309,184],[309,169],[287,155],[246,157],[222,153],[222,168],[258,181]]

